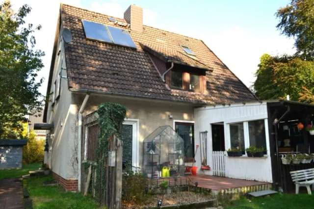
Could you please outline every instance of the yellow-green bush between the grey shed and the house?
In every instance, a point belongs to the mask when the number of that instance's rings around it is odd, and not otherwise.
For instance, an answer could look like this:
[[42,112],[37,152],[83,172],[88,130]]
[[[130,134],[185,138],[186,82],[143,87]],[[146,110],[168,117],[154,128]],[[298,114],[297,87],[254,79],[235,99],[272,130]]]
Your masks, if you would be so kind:
[[36,133],[30,131],[27,144],[23,148],[23,163],[42,162],[44,160],[45,140],[36,140]]

